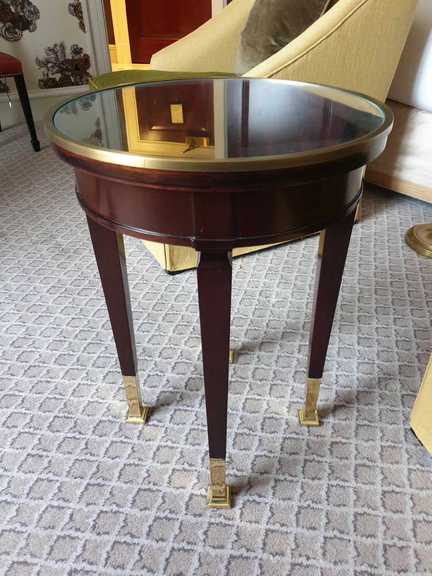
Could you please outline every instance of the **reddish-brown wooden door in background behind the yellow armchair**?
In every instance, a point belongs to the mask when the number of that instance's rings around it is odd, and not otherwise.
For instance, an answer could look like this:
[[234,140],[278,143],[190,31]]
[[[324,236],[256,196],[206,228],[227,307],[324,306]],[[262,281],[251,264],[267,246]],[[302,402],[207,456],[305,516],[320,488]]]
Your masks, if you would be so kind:
[[132,62],[151,56],[211,18],[211,0],[126,0]]

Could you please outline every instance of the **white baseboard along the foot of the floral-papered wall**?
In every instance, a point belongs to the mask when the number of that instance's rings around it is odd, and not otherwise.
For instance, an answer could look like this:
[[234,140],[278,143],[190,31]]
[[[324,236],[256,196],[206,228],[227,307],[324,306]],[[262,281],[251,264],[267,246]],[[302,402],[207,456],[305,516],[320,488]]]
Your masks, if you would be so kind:
[[[48,90],[30,90],[28,93],[32,106],[33,119],[42,120],[48,110],[67,98],[79,96],[88,92],[88,86],[70,86],[69,88],[51,88]],[[12,107],[9,106],[7,94],[0,95],[0,119],[2,126],[12,126],[25,122],[20,99],[16,92],[9,94]]]

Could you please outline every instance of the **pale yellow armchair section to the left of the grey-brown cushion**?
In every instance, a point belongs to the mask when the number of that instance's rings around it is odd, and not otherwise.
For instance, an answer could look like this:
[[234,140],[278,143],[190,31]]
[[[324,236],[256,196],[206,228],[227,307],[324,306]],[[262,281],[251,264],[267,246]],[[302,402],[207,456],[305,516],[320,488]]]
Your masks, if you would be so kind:
[[217,16],[153,55],[152,70],[233,72],[240,32],[254,0],[233,0]]

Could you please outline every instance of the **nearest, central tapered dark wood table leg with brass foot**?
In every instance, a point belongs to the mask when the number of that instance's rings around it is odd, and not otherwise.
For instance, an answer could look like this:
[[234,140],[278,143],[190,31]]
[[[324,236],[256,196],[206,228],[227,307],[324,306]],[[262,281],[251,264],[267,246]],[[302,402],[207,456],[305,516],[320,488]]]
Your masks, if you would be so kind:
[[231,252],[201,252],[196,268],[211,476],[207,506],[218,508],[231,506],[225,484],[231,261]]

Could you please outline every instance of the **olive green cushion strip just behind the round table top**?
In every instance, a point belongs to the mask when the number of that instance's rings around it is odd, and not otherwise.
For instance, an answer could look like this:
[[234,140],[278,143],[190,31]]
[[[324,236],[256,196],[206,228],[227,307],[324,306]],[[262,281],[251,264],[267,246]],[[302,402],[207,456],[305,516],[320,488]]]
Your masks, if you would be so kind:
[[208,77],[233,77],[235,74],[228,72],[166,72],[165,70],[118,70],[93,76],[89,80],[90,90],[112,88],[121,84],[138,84],[138,82],[150,82],[151,80],[172,80],[176,78],[208,78]]

